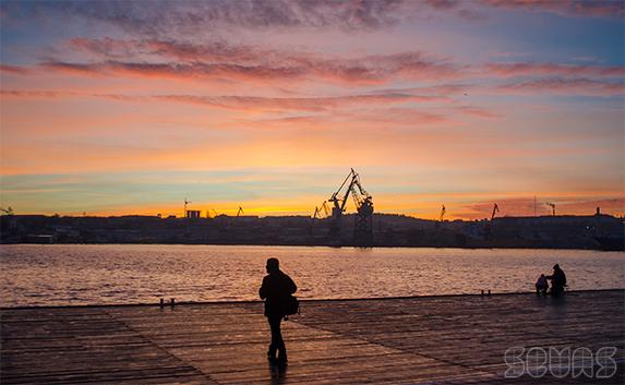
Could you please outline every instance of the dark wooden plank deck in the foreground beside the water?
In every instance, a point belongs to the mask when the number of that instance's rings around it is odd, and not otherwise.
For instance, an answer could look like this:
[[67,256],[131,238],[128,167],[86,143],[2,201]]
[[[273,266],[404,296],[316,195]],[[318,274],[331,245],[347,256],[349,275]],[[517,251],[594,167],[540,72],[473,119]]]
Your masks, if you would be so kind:
[[[623,384],[625,291],[303,301],[289,365],[261,303],[2,309],[1,384]],[[509,347],[616,347],[611,378],[504,378]]]

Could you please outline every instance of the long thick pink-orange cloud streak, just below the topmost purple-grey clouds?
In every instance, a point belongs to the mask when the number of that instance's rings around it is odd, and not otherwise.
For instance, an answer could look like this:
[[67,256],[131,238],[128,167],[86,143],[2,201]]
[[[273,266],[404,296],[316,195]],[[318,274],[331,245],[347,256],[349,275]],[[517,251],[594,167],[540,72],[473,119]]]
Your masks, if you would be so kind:
[[460,75],[461,70],[448,59],[419,51],[333,58],[219,41],[197,45],[176,40],[111,38],[75,38],[68,46],[100,60],[82,63],[50,60],[41,65],[57,71],[98,75],[273,82],[322,80],[341,83],[450,79]]

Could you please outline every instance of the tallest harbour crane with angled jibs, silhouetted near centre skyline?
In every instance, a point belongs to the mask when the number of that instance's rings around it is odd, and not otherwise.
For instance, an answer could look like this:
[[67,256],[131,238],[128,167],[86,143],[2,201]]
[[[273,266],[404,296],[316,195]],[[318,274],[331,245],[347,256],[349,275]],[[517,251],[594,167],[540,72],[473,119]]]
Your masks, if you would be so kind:
[[[344,188],[346,188],[344,190]],[[360,176],[349,171],[338,190],[327,202],[333,203],[330,232],[340,240],[342,230],[342,213],[351,194],[356,204],[356,220],[353,226],[353,243],[357,245],[373,244],[373,197],[362,188]]]

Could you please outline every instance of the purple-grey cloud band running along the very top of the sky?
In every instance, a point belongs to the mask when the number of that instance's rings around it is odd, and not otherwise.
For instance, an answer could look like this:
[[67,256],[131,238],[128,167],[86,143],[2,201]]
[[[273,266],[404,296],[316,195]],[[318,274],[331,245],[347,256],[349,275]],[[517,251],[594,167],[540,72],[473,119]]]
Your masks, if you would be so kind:
[[428,11],[481,20],[488,10],[549,12],[565,16],[623,17],[620,0],[214,0],[3,1],[4,21],[63,17],[115,26],[143,36],[207,36],[227,28],[376,31]]

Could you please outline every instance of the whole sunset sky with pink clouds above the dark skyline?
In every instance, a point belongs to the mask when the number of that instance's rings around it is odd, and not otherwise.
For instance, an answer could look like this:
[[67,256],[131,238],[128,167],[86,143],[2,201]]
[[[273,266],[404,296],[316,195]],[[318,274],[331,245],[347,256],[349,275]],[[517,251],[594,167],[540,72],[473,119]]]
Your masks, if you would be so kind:
[[[0,206],[625,213],[623,1],[0,2]],[[348,204],[348,212],[354,207]]]

